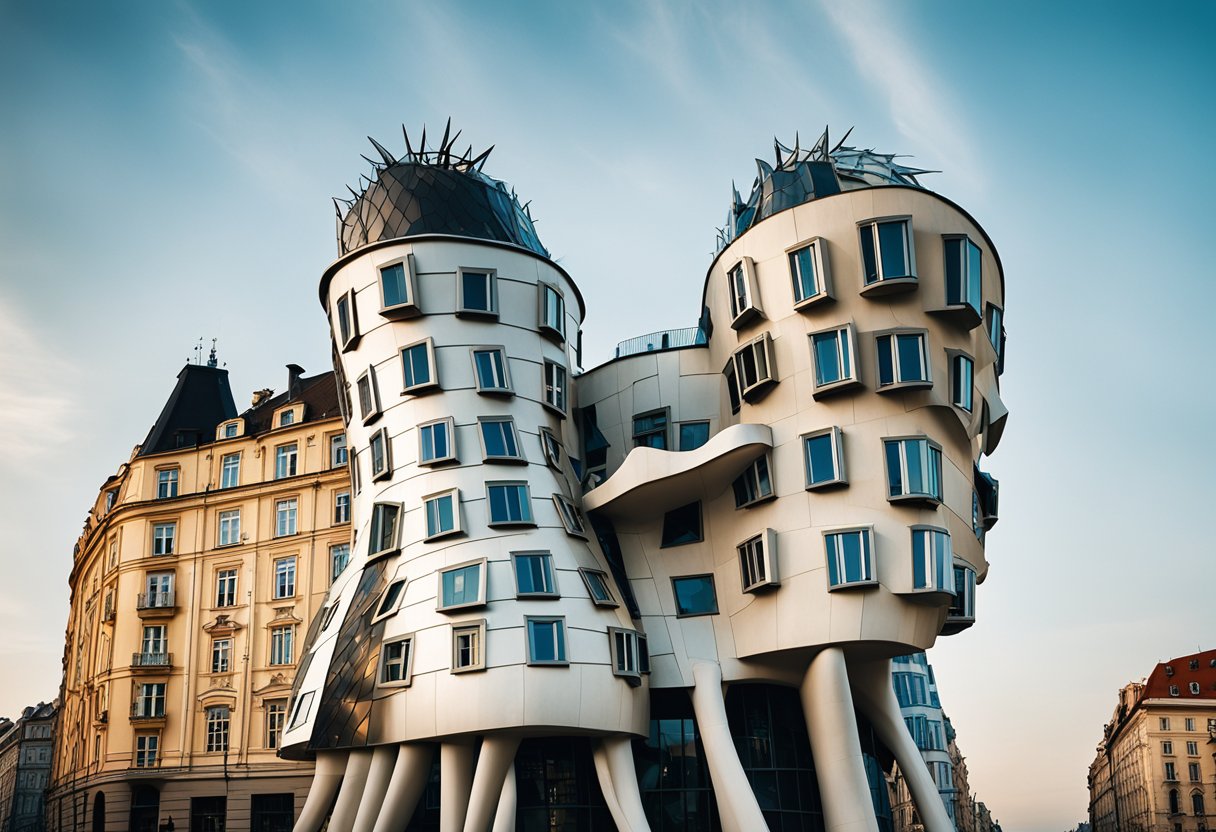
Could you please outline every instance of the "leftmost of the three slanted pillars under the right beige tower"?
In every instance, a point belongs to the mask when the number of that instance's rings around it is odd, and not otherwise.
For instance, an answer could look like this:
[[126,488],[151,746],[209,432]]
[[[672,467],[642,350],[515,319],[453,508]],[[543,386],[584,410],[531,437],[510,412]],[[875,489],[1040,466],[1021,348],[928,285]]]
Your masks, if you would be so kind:
[[760,805],[743,771],[743,764],[739,763],[731,729],[726,723],[722,668],[716,662],[697,662],[692,665],[692,710],[697,716],[702,744],[705,747],[705,760],[709,763],[709,777],[714,782],[714,798],[717,800],[722,830],[724,832],[767,830],[769,825],[760,813]]

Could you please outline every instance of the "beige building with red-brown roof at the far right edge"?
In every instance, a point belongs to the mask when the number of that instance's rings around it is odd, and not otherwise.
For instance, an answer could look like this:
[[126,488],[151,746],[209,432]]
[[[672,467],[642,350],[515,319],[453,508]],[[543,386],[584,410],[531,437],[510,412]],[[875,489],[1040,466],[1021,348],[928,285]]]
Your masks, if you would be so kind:
[[1119,691],[1090,765],[1093,832],[1216,825],[1216,650],[1158,664]]

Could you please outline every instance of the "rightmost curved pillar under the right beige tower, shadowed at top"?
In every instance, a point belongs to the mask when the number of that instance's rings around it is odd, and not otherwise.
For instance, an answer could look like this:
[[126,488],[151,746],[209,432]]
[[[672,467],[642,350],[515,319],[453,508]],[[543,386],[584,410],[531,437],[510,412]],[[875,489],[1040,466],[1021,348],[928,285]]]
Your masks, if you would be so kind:
[[852,681],[852,696],[857,707],[900,764],[925,832],[953,832],[955,825],[946,814],[941,792],[933,782],[929,766],[912,741],[903,714],[900,713],[900,703],[891,685],[891,663],[884,659],[850,665],[849,679]]

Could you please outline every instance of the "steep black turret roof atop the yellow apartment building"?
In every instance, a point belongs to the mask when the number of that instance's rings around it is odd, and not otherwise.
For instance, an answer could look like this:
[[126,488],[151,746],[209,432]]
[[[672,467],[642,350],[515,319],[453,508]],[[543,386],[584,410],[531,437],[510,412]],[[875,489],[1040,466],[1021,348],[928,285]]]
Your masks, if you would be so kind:
[[178,373],[178,386],[140,446],[140,456],[206,445],[215,440],[219,423],[235,416],[227,370],[187,364]]

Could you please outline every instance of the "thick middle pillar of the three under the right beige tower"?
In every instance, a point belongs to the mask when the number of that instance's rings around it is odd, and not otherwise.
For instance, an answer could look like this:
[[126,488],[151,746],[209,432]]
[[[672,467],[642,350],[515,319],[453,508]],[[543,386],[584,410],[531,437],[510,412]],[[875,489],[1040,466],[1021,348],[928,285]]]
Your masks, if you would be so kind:
[[827,832],[878,832],[844,651],[828,647],[811,659],[800,693]]

